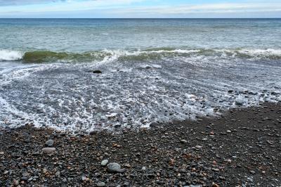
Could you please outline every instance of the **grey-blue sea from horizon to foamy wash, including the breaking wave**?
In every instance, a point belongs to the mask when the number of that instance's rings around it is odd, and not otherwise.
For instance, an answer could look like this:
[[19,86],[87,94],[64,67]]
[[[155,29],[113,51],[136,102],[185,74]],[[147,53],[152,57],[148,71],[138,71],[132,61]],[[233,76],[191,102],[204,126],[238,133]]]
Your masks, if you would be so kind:
[[149,127],[278,101],[281,19],[0,19],[0,127]]

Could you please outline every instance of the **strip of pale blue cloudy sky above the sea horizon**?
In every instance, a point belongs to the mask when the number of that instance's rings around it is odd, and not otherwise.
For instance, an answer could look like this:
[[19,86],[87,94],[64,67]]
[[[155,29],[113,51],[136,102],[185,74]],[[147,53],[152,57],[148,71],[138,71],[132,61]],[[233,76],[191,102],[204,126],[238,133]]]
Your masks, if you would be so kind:
[[281,18],[281,0],[0,0],[0,18]]

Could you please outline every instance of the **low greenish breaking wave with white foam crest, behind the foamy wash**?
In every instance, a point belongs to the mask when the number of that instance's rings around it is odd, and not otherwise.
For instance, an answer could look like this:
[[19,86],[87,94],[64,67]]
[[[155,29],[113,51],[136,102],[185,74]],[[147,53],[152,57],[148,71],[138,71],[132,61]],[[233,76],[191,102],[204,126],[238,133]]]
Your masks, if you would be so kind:
[[281,49],[173,49],[155,48],[143,51],[103,50],[84,53],[55,51],[9,51],[0,50],[0,60],[23,60],[25,63],[90,62],[108,58],[117,60],[153,60],[177,56],[218,56],[222,58],[281,59]]

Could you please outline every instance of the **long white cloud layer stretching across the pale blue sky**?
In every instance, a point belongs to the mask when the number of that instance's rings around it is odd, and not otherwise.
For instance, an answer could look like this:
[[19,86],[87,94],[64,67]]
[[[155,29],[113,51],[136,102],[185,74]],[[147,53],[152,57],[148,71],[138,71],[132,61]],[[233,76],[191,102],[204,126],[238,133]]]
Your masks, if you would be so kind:
[[[1,1],[4,0],[0,0]],[[15,1],[15,0],[12,0]],[[44,0],[29,0],[29,2],[43,2]],[[24,15],[48,15],[58,13],[59,15],[77,15],[84,13],[84,17],[93,18],[91,15],[105,15],[112,18],[188,18],[191,17],[207,17],[208,15],[250,15],[266,13],[265,15],[273,15],[281,17],[281,1],[246,1],[244,3],[216,3],[216,4],[182,4],[174,6],[131,6],[134,2],[145,0],[55,0],[55,6],[44,5],[30,8],[27,5],[6,6],[0,9],[1,15],[13,15],[15,12]],[[110,15],[110,16],[106,16]],[[46,17],[46,16],[45,16]],[[216,16],[214,16],[216,17]],[[261,16],[263,17],[263,16]]]

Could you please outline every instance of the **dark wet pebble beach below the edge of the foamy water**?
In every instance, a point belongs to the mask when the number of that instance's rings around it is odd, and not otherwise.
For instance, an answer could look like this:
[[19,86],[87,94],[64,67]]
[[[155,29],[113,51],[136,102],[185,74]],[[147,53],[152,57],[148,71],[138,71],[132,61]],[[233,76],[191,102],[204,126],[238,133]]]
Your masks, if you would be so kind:
[[117,132],[0,129],[0,186],[281,186],[281,103]]

